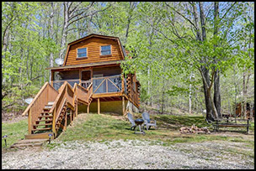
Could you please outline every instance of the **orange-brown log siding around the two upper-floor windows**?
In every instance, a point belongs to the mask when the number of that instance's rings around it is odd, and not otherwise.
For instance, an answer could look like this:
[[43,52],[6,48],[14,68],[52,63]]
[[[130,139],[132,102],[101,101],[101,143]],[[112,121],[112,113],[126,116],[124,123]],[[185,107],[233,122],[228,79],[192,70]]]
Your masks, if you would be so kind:
[[[100,46],[111,45],[111,54],[100,55]],[[77,49],[88,48],[88,57],[77,58]],[[115,39],[90,38],[77,44],[70,45],[67,49],[67,62],[64,65],[79,65],[110,60],[123,60],[120,46]]]

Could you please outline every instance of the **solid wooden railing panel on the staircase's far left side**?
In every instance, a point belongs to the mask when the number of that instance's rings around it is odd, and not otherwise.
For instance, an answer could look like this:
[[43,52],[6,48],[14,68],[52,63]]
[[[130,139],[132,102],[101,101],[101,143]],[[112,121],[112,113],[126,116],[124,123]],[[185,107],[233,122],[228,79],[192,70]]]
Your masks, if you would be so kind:
[[28,113],[29,134],[31,133],[33,124],[35,124],[35,121],[40,116],[40,113],[43,111],[45,105],[47,105],[48,101],[54,101],[56,96],[58,96],[58,91],[56,91],[48,82],[45,82],[45,85],[42,86],[33,101],[21,115],[25,116]]

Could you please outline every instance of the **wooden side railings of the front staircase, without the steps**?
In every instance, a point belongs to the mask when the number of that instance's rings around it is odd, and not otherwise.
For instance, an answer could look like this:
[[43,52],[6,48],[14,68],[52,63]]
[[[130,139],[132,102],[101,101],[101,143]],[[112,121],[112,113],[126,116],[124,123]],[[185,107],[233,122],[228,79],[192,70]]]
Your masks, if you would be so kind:
[[45,105],[49,101],[54,101],[51,106],[49,113],[52,113],[52,132],[56,135],[56,122],[61,115],[61,110],[63,106],[67,104],[72,111],[76,111],[77,117],[77,102],[75,106],[75,101],[79,100],[88,104],[90,97],[93,94],[92,84],[88,86],[88,89],[83,88],[81,85],[75,83],[74,88],[65,81],[63,85],[59,88],[58,91],[55,90],[48,82],[42,86],[38,94],[35,96],[34,100],[26,108],[22,116],[29,114],[29,134],[32,133],[32,127],[35,124],[35,121],[40,116],[40,113],[43,111]]

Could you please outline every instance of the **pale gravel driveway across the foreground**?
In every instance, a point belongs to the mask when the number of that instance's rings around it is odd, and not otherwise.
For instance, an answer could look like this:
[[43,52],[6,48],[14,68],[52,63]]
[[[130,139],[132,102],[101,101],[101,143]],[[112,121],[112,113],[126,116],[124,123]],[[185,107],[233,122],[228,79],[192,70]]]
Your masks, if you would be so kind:
[[114,140],[62,142],[52,149],[2,154],[2,168],[254,168],[254,154],[241,142],[194,142],[165,147],[161,142]]

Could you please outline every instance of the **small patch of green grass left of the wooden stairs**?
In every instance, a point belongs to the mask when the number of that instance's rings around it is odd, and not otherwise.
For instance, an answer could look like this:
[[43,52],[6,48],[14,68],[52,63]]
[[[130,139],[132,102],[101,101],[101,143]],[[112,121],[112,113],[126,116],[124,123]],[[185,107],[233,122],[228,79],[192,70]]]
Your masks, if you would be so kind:
[[[28,133],[28,119],[24,119],[19,122],[2,123],[2,136],[7,135],[7,148],[13,145],[14,142],[24,138],[24,135]],[[2,148],[5,148],[5,143],[2,138]]]

